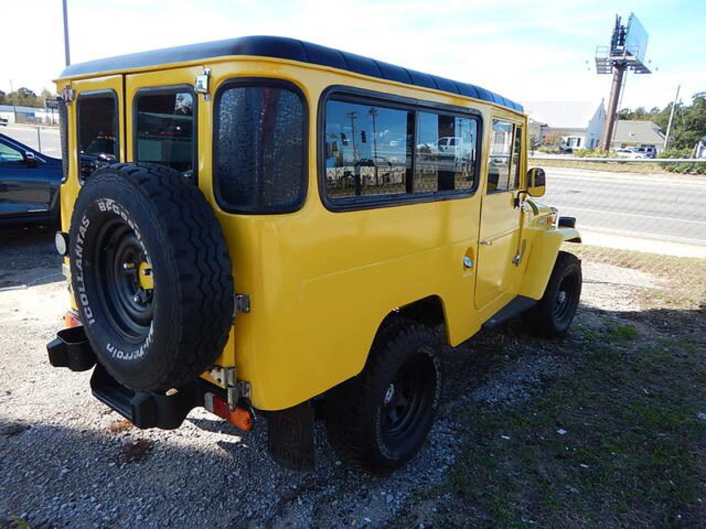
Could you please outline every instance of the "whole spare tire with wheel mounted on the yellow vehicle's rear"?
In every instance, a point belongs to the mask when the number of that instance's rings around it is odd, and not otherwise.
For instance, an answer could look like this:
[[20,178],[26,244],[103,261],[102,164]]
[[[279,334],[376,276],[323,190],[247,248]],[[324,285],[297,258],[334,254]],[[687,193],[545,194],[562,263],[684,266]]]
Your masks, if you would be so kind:
[[234,305],[227,245],[213,209],[178,171],[95,171],[73,207],[68,255],[85,333],[124,386],[178,388],[223,350]]

